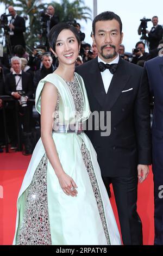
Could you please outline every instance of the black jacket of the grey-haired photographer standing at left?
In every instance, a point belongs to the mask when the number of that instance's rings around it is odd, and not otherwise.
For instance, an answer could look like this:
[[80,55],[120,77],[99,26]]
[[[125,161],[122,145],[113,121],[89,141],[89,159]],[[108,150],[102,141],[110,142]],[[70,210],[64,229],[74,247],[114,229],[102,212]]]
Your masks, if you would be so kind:
[[[22,71],[22,90],[30,98],[33,94],[33,81],[32,76],[29,73]],[[12,92],[16,92],[16,82],[15,76],[10,73],[6,75],[5,78],[5,92],[7,95],[11,96]]]

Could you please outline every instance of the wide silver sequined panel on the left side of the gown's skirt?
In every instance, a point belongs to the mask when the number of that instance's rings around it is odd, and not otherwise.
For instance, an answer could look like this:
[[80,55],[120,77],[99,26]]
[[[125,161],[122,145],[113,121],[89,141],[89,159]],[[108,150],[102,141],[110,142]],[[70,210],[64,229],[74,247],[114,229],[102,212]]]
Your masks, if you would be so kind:
[[44,155],[28,187],[26,207],[16,245],[51,244],[47,203],[47,159]]

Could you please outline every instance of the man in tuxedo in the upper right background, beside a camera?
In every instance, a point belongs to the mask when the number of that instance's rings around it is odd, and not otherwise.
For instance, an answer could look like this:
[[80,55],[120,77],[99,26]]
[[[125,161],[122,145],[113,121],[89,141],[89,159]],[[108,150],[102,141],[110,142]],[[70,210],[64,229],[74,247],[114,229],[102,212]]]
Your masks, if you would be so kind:
[[163,28],[161,25],[158,25],[158,22],[158,17],[154,16],[152,18],[153,27],[151,28],[151,31],[146,31],[148,34],[150,51],[157,48],[159,45],[159,41],[162,39]]

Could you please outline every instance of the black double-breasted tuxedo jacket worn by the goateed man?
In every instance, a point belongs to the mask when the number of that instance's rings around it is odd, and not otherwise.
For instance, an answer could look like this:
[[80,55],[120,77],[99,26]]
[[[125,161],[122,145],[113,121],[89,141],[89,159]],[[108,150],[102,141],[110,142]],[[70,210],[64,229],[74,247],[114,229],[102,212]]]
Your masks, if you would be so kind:
[[83,77],[91,111],[103,111],[105,121],[106,111],[111,111],[110,136],[102,137],[96,128],[86,131],[102,176],[133,175],[137,164],[151,164],[149,89],[143,69],[120,58],[107,94],[97,58],[78,66],[77,72]]

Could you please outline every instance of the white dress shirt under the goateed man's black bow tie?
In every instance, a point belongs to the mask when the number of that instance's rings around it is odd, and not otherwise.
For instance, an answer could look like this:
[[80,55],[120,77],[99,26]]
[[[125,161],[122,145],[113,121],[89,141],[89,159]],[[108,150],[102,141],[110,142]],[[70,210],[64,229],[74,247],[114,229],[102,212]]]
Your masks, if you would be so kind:
[[[116,59],[112,60],[112,62],[109,62],[108,64],[115,64],[118,63],[120,59],[120,56],[118,54],[118,56],[116,57]],[[102,60],[101,58],[99,58],[98,56],[98,62],[103,62],[104,64],[106,64],[106,62],[104,62],[104,60]],[[101,76],[102,76],[102,80],[103,80],[103,84],[104,84],[104,88],[105,88],[105,92],[108,93],[108,89],[113,77],[113,74],[110,73],[109,69],[105,69],[104,72],[101,72]]]

